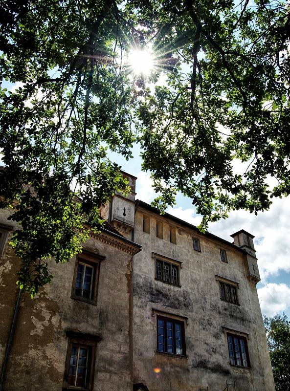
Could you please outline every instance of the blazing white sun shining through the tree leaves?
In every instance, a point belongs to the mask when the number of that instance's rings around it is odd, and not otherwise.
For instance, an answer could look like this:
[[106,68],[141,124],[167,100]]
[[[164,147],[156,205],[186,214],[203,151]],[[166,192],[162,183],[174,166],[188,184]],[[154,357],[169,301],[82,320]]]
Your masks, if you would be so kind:
[[128,55],[130,71],[136,76],[148,76],[154,69],[154,57],[150,49],[134,49]]

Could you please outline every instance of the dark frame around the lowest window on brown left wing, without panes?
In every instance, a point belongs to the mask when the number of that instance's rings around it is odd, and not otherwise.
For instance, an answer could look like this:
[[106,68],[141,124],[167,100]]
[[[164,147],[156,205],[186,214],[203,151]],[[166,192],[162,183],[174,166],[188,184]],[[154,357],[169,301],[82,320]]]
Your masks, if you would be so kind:
[[[67,357],[66,357],[66,367],[64,373],[63,381],[63,390],[77,390],[77,391],[91,391],[93,390],[94,384],[94,369],[95,369],[95,360],[96,360],[96,345],[97,342],[102,338],[99,335],[91,335],[87,333],[78,332],[75,330],[66,331],[68,337],[67,343]],[[78,348],[87,348],[88,349],[88,365],[87,365],[87,374],[86,374],[86,384],[85,386],[74,386],[68,383],[69,367],[70,367],[70,358],[71,358],[71,349],[73,346]]]

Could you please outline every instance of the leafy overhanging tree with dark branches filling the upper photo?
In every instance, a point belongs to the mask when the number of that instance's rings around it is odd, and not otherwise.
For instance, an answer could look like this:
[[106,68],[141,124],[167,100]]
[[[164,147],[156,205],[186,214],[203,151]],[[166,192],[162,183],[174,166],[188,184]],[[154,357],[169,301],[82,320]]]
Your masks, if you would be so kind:
[[[155,205],[177,191],[207,221],[257,213],[288,195],[290,9],[276,0],[1,1],[1,207],[17,201],[12,239],[32,296],[126,191],[106,149],[142,147]],[[156,67],[134,75],[132,47]],[[160,74],[166,82],[156,82]],[[155,86],[156,85],[156,86]],[[244,174],[235,161],[248,162]],[[268,186],[268,177],[277,179]],[[128,190],[128,189],[127,189]],[[88,226],[87,226],[88,227]]]

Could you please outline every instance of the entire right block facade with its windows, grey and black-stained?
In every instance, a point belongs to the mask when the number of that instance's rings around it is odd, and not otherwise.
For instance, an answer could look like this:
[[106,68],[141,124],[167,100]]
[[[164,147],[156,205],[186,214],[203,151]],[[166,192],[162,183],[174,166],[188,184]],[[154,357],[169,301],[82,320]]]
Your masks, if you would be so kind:
[[134,240],[143,251],[134,258],[135,383],[154,391],[275,389],[253,237],[245,231],[233,237],[237,246],[138,203]]

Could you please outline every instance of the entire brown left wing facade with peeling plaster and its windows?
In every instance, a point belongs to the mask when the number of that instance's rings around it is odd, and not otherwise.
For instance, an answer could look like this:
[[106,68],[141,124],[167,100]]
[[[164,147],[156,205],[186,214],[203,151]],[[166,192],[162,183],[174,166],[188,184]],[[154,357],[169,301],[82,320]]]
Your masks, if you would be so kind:
[[[8,234],[0,263],[1,363],[17,301],[19,268],[7,245],[13,229],[7,226],[8,214],[1,211],[0,219],[1,232]],[[51,262],[53,282],[38,298],[23,295],[4,391],[133,389],[132,271],[133,256],[140,247],[107,228],[92,234],[84,252],[67,264]],[[92,270],[93,291],[88,297],[76,290],[79,265]],[[79,378],[73,373],[69,378],[74,352],[78,353],[74,355],[77,369],[86,372]]]

